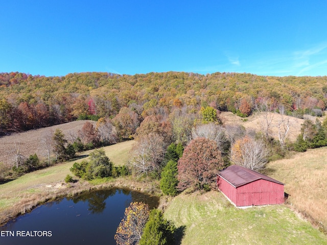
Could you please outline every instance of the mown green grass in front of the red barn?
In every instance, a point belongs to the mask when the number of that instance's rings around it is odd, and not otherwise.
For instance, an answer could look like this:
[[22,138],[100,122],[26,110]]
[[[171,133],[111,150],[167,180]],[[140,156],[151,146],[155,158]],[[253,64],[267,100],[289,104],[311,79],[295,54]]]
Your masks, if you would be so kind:
[[327,236],[285,205],[238,209],[217,191],[180,194],[165,211],[181,244],[327,244]]

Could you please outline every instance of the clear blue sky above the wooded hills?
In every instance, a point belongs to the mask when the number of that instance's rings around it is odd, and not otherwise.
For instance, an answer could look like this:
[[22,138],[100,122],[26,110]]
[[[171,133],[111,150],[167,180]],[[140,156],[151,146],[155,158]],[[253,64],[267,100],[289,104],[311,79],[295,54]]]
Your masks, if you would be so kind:
[[0,72],[327,75],[327,1],[0,0]]

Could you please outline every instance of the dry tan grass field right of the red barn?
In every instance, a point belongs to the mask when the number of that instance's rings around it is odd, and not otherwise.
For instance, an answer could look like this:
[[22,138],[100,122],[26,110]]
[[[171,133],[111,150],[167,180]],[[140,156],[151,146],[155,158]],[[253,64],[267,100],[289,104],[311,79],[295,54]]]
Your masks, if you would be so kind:
[[267,165],[267,173],[285,183],[288,203],[317,225],[327,227],[327,148],[297,153]]

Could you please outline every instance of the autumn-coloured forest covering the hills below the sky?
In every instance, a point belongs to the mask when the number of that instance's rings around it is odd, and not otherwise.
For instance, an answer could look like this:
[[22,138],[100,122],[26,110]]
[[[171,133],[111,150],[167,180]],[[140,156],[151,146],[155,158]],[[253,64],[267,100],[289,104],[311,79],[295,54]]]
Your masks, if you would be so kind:
[[1,73],[0,133],[119,115],[116,130],[127,138],[147,115],[169,115],[182,107],[196,113],[211,106],[248,116],[266,106],[281,114],[319,116],[327,106],[326,80],[219,72],[205,76],[186,72],[134,76],[86,72],[64,77]]

